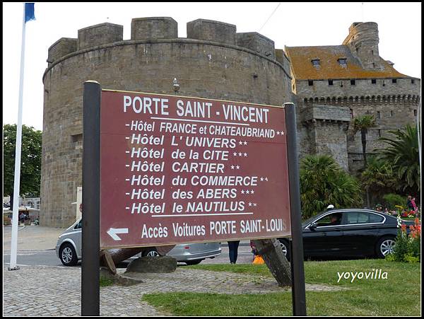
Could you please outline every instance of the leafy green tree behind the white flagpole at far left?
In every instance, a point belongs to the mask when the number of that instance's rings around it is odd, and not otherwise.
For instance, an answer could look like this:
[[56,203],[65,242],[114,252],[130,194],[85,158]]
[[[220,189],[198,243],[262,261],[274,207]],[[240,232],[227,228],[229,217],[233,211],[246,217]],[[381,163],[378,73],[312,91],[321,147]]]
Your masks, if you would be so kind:
[[[22,126],[20,157],[20,195],[40,196],[41,180],[41,136],[33,127]],[[13,197],[15,175],[16,124],[3,126],[3,187],[4,196]]]

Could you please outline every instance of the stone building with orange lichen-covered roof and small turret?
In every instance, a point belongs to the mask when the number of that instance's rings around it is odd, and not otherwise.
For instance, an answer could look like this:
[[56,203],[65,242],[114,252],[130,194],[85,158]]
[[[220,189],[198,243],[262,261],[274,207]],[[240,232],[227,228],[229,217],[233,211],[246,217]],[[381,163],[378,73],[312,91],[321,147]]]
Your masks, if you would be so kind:
[[379,57],[377,23],[353,23],[342,45],[285,47],[298,105],[300,156],[328,153],[350,173],[363,167],[360,132],[351,120],[370,114],[367,153],[384,147],[379,137],[416,122],[420,79],[399,73]]

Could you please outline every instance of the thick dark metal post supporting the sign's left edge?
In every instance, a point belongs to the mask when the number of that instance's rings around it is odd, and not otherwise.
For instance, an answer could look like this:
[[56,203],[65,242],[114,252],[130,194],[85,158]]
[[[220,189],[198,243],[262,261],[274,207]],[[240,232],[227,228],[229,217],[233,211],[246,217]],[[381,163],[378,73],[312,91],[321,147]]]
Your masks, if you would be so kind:
[[100,84],[84,83],[81,315],[100,315]]

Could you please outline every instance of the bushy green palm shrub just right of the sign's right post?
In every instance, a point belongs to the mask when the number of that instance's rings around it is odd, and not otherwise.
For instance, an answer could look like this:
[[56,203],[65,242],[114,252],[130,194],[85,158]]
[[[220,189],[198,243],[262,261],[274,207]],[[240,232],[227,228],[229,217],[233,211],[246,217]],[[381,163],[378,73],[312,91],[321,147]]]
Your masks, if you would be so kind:
[[360,183],[346,173],[331,156],[310,155],[300,163],[302,218],[326,209],[355,207],[362,203]]

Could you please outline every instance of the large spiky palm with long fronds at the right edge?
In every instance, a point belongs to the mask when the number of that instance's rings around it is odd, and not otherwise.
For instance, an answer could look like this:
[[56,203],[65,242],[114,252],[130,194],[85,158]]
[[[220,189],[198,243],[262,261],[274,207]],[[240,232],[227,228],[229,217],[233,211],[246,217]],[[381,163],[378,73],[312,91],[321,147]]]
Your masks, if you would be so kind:
[[389,131],[392,137],[380,137],[380,141],[389,144],[379,150],[379,157],[391,163],[399,178],[398,189],[411,194],[420,191],[420,161],[418,156],[418,129],[406,125],[405,129]]

